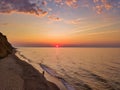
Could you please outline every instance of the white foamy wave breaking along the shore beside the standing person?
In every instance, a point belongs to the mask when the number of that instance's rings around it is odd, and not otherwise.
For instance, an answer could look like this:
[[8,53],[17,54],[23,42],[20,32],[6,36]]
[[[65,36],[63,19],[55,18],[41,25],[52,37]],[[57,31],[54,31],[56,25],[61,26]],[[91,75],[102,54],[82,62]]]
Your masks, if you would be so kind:
[[55,78],[59,79],[63,85],[66,87],[67,90],[75,90],[75,88],[70,85],[64,78],[60,77],[57,72],[55,70],[53,70],[52,68],[40,63],[40,66],[43,70],[45,70],[48,74],[50,74],[51,76],[54,76]]

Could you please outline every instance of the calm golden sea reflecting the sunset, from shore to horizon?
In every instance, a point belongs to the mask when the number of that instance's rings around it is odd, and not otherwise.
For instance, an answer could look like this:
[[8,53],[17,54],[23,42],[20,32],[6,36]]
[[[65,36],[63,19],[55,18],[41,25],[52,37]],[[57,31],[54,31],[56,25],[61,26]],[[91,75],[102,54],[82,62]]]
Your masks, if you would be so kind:
[[30,62],[48,66],[75,90],[120,90],[120,48],[18,48],[18,51]]

